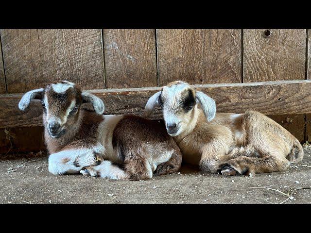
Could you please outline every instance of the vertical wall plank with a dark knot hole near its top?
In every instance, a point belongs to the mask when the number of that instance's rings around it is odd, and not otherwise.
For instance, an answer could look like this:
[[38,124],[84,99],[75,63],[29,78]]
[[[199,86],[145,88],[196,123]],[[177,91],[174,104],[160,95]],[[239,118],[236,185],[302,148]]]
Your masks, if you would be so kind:
[[306,30],[268,31],[243,30],[243,82],[305,79]]

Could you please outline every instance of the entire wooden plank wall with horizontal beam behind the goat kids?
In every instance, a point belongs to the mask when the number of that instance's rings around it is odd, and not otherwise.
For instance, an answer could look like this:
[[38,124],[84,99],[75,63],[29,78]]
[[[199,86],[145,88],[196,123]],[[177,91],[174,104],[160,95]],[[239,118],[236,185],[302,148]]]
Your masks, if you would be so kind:
[[259,110],[301,142],[311,136],[311,85],[289,82],[311,79],[308,30],[5,29],[0,38],[0,153],[44,149],[39,103],[26,114],[17,103],[60,79],[94,90],[107,113],[138,115],[157,86],[184,80],[203,85],[221,112]]

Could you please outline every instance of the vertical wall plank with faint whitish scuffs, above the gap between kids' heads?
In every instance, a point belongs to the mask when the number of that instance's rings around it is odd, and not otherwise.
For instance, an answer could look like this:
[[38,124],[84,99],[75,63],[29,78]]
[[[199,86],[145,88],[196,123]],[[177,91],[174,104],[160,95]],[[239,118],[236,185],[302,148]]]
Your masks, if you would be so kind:
[[155,30],[104,30],[106,86],[156,86]]

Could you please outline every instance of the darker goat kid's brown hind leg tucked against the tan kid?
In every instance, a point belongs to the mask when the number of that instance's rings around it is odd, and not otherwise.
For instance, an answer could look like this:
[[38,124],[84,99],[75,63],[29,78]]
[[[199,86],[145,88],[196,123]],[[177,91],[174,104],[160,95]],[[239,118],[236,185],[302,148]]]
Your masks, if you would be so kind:
[[181,166],[181,160],[182,156],[180,151],[174,150],[169,161],[161,163],[156,167],[154,176],[177,172]]

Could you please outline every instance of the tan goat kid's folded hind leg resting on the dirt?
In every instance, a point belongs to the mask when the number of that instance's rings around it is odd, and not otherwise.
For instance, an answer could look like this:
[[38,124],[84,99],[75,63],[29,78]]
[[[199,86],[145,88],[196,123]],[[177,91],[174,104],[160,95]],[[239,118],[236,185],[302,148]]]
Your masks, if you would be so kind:
[[249,173],[284,171],[288,168],[289,164],[289,161],[282,156],[266,155],[258,158],[241,155],[222,164],[221,173],[234,176]]

